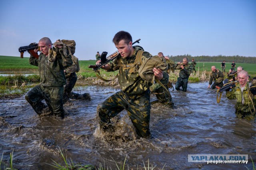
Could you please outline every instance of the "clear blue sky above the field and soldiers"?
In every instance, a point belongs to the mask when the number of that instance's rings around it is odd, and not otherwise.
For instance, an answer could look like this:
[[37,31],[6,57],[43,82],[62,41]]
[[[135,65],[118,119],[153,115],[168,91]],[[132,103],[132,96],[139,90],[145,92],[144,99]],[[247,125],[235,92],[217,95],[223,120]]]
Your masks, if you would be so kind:
[[[256,57],[256,0],[1,0],[0,55],[42,37],[76,41],[79,60],[128,31],[152,55]],[[24,57],[29,57],[28,53]]]

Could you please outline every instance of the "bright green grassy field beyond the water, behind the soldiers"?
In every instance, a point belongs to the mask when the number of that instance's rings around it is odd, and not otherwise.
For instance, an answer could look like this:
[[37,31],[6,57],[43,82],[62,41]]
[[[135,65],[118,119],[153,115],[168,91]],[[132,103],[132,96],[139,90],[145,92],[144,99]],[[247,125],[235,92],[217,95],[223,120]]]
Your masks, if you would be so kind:
[[[7,72],[23,72],[23,71],[31,71],[37,72],[37,66],[32,66],[28,63],[28,57],[24,57],[21,59],[20,57],[10,57],[10,56],[0,56],[0,71],[7,71]],[[88,77],[95,77],[95,73],[91,68],[88,68],[88,65],[94,65],[96,60],[87,60],[87,61],[79,61],[80,63],[80,72],[78,72],[78,76],[82,76],[83,78]],[[199,69],[200,72],[204,70],[206,72],[211,71],[211,66],[216,66],[216,68],[221,69],[221,63],[212,63],[212,62],[197,62],[196,70]],[[256,76],[256,64],[250,63],[236,63],[236,67],[242,66],[244,70],[248,71],[250,76]],[[226,63],[226,72],[231,68],[231,63]],[[111,76],[113,72],[105,72],[104,70],[101,71],[106,76]]]

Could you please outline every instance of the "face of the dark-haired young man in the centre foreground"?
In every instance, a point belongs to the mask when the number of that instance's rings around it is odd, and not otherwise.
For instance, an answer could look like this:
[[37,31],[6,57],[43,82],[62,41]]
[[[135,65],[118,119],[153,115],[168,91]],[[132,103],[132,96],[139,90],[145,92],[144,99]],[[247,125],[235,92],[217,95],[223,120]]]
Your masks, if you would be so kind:
[[122,56],[122,58],[127,58],[132,56],[132,42],[130,41],[129,44],[126,44],[124,40],[122,39],[119,41],[117,45],[115,45],[116,48],[118,49],[118,52]]

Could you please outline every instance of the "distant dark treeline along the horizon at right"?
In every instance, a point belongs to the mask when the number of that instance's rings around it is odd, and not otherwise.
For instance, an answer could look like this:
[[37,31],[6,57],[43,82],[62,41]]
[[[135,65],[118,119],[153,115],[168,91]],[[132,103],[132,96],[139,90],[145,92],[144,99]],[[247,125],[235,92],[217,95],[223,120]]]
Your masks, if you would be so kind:
[[252,63],[256,64],[256,57],[244,57],[244,56],[224,56],[224,55],[218,55],[218,56],[196,56],[192,57],[191,55],[176,55],[176,56],[169,56],[170,59],[172,59],[175,62],[182,61],[184,57],[188,57],[188,61],[191,62],[192,59],[194,59],[196,62],[220,62],[226,61],[226,63],[232,63],[233,61],[235,63]]

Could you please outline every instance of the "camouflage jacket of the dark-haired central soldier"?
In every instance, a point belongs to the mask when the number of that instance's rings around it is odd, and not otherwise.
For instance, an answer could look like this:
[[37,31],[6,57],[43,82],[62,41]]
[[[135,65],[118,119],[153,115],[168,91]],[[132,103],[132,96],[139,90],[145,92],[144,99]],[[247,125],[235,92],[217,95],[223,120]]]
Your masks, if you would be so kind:
[[[142,63],[134,63],[136,59],[137,52],[139,50],[143,50],[139,46],[134,46],[134,54],[126,59],[123,59],[121,56],[117,57],[116,59],[113,60],[112,63],[110,63],[110,70],[109,71],[115,71],[119,69],[118,72],[118,81],[120,83],[120,86],[122,88],[122,91],[127,93],[128,95],[143,95],[148,89],[149,86],[151,86],[151,83],[147,82],[146,80],[143,80],[139,74],[138,70],[145,61],[146,58],[152,57],[152,55],[146,51],[142,53],[141,61]],[[119,63],[120,62],[120,63]],[[129,72],[131,68],[124,69],[124,67],[118,65],[118,64],[135,64],[137,67],[135,67],[134,72]],[[167,84],[169,80],[169,76],[166,72],[163,72],[164,77],[160,82],[162,84]]]

